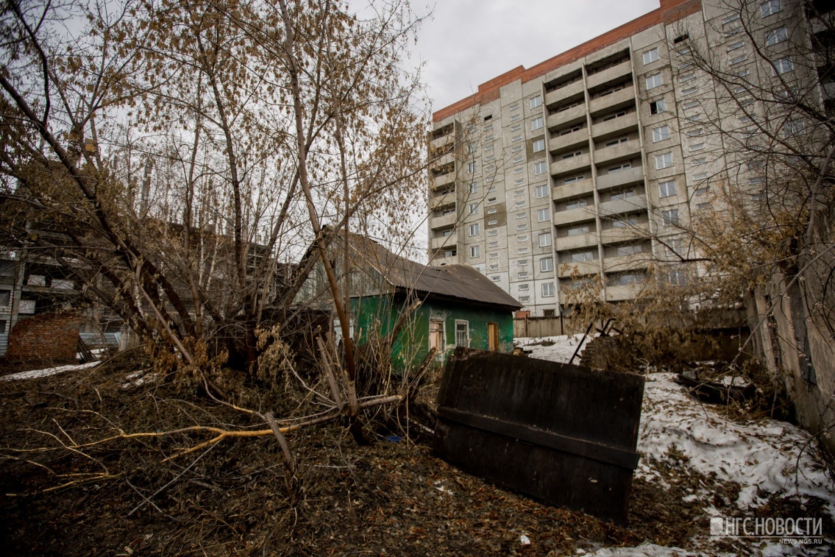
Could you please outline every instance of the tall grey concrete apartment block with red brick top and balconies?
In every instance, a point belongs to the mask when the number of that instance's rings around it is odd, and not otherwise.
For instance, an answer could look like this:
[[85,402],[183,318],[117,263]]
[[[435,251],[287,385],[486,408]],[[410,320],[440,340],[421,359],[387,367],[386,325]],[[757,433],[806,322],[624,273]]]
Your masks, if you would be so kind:
[[[750,4],[756,33],[779,33],[802,13],[797,0]],[[530,316],[561,313],[571,272],[601,276],[609,301],[635,297],[650,261],[669,261],[672,283],[699,272],[674,251],[687,249],[680,226],[710,204],[706,180],[757,176],[706,132],[702,119],[721,114],[721,94],[676,45],[710,45],[728,71],[767,78],[741,33],[739,5],[660,0],[433,114],[430,263],[476,267]]]

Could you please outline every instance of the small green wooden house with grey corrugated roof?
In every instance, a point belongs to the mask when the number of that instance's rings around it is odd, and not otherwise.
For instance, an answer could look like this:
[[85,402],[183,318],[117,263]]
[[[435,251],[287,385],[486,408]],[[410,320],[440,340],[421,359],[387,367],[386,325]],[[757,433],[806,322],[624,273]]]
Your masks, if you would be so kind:
[[[392,343],[394,370],[419,365],[433,347],[441,363],[456,346],[513,352],[513,312],[522,305],[473,267],[426,266],[361,235],[349,235],[348,244],[354,341],[362,345],[387,337],[406,314]],[[344,246],[344,236],[331,243],[335,246]],[[332,260],[342,276],[344,256],[338,251]],[[325,303],[330,296],[323,273],[311,274],[310,282],[301,299]]]

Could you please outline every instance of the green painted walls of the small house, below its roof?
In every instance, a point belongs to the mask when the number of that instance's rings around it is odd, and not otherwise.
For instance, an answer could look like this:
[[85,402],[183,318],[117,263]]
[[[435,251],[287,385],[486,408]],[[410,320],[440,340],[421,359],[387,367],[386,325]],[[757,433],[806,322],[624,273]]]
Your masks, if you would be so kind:
[[[368,342],[369,332],[381,337],[397,323],[405,306],[399,297],[382,295],[352,298],[351,311],[357,342]],[[443,363],[455,347],[455,322],[468,322],[469,347],[488,349],[488,322],[498,324],[498,351],[513,352],[514,319],[509,310],[488,306],[470,306],[458,302],[428,299],[412,314],[392,347],[392,367],[402,371],[417,367],[429,352],[429,320],[443,320],[446,350],[438,358]]]

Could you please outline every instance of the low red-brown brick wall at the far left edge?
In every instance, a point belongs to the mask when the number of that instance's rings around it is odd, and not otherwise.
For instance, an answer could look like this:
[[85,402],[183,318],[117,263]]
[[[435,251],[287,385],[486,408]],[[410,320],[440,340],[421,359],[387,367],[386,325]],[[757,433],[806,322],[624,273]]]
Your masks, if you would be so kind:
[[81,317],[42,313],[22,319],[8,338],[9,362],[74,362],[78,352]]

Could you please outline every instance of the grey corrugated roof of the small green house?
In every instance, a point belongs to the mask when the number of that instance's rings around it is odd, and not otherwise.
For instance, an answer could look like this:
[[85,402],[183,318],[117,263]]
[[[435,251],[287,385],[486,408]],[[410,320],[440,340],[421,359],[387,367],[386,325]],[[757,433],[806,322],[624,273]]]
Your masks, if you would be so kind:
[[522,304],[468,265],[429,266],[397,256],[366,236],[351,234],[357,258],[371,265],[392,286],[462,300],[519,309]]

